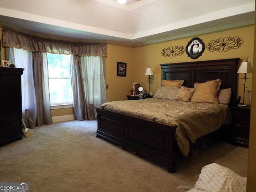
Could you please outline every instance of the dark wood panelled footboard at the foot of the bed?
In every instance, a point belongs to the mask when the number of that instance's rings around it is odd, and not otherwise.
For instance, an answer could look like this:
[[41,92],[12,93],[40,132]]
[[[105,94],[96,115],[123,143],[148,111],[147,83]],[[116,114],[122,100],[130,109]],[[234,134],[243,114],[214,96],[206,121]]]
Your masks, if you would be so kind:
[[168,172],[176,171],[174,139],[177,127],[170,127],[143,119],[118,114],[96,108],[98,129],[101,136],[116,144],[142,154],[168,168]]

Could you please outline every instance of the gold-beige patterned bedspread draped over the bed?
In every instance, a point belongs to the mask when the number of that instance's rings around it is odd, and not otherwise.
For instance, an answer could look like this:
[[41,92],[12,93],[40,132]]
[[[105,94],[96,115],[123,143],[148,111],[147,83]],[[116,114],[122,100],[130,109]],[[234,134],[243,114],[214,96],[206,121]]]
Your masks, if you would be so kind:
[[153,122],[178,126],[176,140],[184,156],[188,156],[189,141],[194,143],[197,138],[231,122],[230,110],[223,104],[148,98],[106,102],[101,107]]

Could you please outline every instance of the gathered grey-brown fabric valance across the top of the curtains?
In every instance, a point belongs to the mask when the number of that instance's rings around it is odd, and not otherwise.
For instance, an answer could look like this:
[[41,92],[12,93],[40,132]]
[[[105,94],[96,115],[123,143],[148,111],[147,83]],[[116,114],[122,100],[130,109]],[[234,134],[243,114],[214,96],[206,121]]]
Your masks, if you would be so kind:
[[107,56],[106,45],[66,42],[31,36],[10,29],[2,33],[2,46],[22,48],[32,52],[72,54],[78,56]]

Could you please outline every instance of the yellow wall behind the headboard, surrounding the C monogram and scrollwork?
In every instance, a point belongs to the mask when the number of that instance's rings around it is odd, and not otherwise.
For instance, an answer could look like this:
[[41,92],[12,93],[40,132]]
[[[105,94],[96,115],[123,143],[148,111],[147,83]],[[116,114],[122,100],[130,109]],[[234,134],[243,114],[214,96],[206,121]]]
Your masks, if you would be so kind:
[[[204,44],[207,46],[208,42],[211,40],[216,40],[220,37],[234,37],[238,36],[242,38],[244,43],[242,46],[236,50],[229,50],[228,52],[210,52],[207,48],[204,50],[202,56],[198,59],[193,60],[188,57],[186,52],[182,56],[176,56],[175,58],[163,57],[161,52],[162,49],[168,48],[170,46],[179,46],[182,45],[186,48],[188,41],[190,41],[194,37],[198,37],[203,40]],[[254,26],[247,26],[242,28],[236,28],[232,30],[224,30],[221,32],[214,32],[210,34],[197,35],[189,38],[182,38],[178,40],[172,40],[168,42],[162,42],[158,44],[152,44],[147,46],[141,46],[134,48],[134,79],[133,81],[140,81],[140,79],[144,79],[146,81],[147,77],[144,76],[146,68],[150,65],[154,72],[154,76],[152,76],[151,80],[151,90],[156,92],[156,89],[161,86],[161,68],[159,64],[166,63],[176,63],[176,62],[192,62],[192,61],[200,61],[200,60],[215,60],[215,59],[226,59],[226,58],[240,58],[241,62],[248,61],[253,64],[253,48],[254,48]],[[239,82],[238,82],[238,94],[242,97],[243,95],[243,78],[244,74],[238,74]],[[252,74],[247,75],[250,78],[246,82],[246,87],[248,90],[251,90],[252,84]],[[148,84],[144,84],[144,86],[148,90]],[[246,89],[247,90],[247,89]],[[248,94],[246,92],[245,95],[245,103],[249,104]]]

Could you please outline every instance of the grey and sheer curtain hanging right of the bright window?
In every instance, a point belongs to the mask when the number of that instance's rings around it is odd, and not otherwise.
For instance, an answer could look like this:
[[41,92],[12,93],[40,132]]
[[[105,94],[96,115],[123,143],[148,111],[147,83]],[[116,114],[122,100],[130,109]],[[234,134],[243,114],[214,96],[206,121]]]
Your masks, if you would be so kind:
[[71,82],[76,120],[95,119],[95,107],[107,102],[104,59],[94,56],[71,56]]

